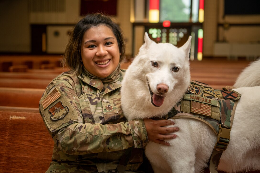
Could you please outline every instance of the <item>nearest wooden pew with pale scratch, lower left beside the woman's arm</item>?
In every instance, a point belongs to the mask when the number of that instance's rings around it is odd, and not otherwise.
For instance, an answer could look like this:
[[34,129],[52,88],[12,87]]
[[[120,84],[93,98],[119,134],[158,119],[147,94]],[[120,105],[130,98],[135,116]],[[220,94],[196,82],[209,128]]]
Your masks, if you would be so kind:
[[0,106],[0,172],[45,172],[54,142],[37,108]]

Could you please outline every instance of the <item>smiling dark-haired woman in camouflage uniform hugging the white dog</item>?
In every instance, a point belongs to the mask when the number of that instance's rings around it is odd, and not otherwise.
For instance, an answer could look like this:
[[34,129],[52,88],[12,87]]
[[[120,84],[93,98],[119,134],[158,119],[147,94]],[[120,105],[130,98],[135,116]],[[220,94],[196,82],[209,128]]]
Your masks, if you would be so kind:
[[47,86],[39,105],[55,143],[47,172],[136,172],[148,141],[168,145],[164,139],[176,137],[165,135],[178,130],[162,127],[169,120],[127,122],[120,101],[124,58],[122,32],[109,17],[91,14],[75,25],[63,59],[71,70]]

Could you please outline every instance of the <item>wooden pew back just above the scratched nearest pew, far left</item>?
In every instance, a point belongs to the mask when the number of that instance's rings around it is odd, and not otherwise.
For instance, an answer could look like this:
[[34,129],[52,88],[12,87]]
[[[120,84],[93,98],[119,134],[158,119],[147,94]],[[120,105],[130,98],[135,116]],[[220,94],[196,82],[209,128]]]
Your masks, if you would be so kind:
[[0,87],[0,106],[38,108],[44,89]]

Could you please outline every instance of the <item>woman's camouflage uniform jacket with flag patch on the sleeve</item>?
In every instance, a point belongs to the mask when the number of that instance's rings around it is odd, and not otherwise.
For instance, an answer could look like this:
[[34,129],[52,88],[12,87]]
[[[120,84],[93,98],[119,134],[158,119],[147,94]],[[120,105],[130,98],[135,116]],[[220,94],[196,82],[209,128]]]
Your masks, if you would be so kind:
[[[148,143],[143,120],[127,122],[123,115],[123,74],[120,66],[106,79],[85,69],[80,76],[69,71],[47,86],[39,110],[55,143],[49,172],[111,172],[127,148]],[[141,162],[142,151],[126,170],[135,171]]]

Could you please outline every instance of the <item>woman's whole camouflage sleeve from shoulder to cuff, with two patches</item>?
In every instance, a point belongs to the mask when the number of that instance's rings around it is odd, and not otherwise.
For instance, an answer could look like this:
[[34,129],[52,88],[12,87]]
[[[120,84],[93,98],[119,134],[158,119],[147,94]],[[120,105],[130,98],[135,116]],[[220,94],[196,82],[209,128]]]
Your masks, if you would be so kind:
[[143,120],[84,123],[76,90],[66,80],[54,81],[47,87],[39,110],[57,147],[70,155],[142,148],[148,143]]

